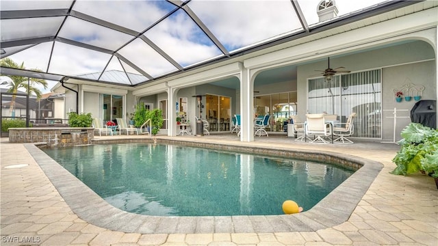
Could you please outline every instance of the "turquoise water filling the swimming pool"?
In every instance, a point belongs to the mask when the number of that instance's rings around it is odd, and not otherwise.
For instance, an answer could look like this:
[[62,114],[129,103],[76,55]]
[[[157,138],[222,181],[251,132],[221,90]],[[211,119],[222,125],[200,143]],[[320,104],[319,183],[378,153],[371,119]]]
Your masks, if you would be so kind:
[[153,143],[43,150],[113,206],[144,215],[280,215],[285,200],[309,210],[354,172]]

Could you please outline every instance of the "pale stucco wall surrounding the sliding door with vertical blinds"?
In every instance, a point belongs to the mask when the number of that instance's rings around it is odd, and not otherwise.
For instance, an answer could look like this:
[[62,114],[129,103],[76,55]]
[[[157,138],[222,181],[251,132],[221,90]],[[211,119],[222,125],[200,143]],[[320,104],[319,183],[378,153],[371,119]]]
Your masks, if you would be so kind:
[[[413,41],[413,42],[412,42]],[[434,59],[434,60],[430,60]],[[436,100],[436,74],[435,74],[435,51],[430,44],[423,41],[407,41],[395,46],[388,46],[373,51],[365,51],[344,57],[331,57],[331,68],[344,66],[346,70],[359,72],[361,70],[382,68],[382,109],[411,109],[415,102],[396,104],[392,90],[402,86],[408,81],[424,85],[428,92],[424,99]],[[327,61],[318,61],[312,64],[298,66],[298,115],[305,119],[307,113],[307,79],[318,74],[315,70],[324,70]],[[383,139],[391,139],[393,136],[394,119],[385,118],[383,115]],[[400,138],[400,130],[409,124],[410,120],[398,121],[396,136]]]

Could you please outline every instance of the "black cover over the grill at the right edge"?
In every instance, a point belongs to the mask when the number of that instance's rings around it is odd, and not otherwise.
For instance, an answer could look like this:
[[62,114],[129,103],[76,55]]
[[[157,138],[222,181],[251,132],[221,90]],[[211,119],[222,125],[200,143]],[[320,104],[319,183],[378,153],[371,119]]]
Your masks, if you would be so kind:
[[419,100],[411,109],[411,122],[437,128],[437,100]]

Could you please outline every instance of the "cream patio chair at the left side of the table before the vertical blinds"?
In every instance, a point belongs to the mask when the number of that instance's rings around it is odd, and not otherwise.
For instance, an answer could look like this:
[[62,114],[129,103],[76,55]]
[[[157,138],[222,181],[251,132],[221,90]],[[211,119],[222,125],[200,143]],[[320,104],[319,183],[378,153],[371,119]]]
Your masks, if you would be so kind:
[[[325,122],[323,113],[307,114],[305,135],[314,135],[315,138],[311,143],[329,143],[322,136],[329,137],[332,135],[332,126]],[[305,138],[307,141],[307,138]]]

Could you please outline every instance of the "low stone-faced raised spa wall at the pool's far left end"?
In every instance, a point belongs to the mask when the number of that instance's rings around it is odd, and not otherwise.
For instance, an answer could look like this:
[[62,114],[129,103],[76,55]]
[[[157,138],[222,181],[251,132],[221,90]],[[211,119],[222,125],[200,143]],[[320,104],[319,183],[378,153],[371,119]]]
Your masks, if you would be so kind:
[[10,143],[47,143],[51,147],[90,145],[94,128],[32,127],[9,128]]

